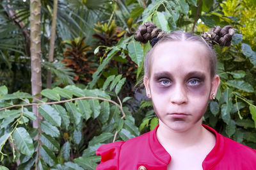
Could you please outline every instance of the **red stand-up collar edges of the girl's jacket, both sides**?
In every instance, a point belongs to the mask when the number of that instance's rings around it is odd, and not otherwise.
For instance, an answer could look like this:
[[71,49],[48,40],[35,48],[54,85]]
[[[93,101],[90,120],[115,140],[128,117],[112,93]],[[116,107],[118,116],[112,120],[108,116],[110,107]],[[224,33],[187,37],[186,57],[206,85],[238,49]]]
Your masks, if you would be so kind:
[[[225,140],[222,135],[218,134],[216,130],[214,130],[211,127],[208,127],[207,125],[202,124],[204,128],[212,132],[216,137],[216,144],[214,148],[210,151],[210,153],[205,157],[202,166],[203,169],[210,169],[211,167],[214,167],[223,156],[224,150],[225,150]],[[150,150],[154,154],[154,156],[159,159],[161,162],[166,164],[170,164],[171,156],[170,154],[163,148],[163,146],[159,143],[156,131],[159,125],[157,125],[154,130],[150,132],[150,137],[148,138],[148,142],[150,144]]]

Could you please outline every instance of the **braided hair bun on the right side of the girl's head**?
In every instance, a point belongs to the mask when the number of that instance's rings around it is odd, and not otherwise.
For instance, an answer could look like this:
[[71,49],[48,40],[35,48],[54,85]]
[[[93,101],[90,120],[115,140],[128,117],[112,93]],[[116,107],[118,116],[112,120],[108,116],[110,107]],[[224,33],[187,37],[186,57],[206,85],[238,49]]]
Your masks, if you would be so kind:
[[229,46],[234,34],[235,31],[232,26],[225,26],[223,28],[215,26],[209,33],[202,33],[202,37],[209,45],[218,44],[220,46]]

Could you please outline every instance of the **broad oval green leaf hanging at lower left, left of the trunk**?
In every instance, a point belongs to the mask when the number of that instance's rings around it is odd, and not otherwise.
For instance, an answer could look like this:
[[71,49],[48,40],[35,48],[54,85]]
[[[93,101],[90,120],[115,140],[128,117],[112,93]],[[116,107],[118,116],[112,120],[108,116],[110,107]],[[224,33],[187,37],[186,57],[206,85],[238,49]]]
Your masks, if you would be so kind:
[[34,153],[33,140],[31,139],[27,130],[23,127],[16,128],[13,132],[13,139],[15,140],[15,145],[21,153],[24,155],[32,156]]

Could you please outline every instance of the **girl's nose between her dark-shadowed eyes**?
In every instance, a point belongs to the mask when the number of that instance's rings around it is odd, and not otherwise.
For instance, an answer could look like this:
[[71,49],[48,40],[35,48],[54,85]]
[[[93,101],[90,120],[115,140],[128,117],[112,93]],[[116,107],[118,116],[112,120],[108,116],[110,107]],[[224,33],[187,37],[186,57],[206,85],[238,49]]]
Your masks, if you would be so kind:
[[177,85],[171,94],[171,103],[172,104],[186,104],[188,102],[187,91],[184,87]]

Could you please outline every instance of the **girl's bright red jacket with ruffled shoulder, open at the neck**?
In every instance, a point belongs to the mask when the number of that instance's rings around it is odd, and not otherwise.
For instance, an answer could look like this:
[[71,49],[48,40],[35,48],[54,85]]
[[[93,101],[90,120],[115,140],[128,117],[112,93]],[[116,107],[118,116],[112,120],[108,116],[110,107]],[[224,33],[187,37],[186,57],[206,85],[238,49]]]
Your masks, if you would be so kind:
[[[216,135],[216,144],[205,157],[202,163],[203,169],[256,169],[256,150],[223,137],[207,125],[203,126]],[[100,146],[96,151],[96,154],[101,156],[97,170],[132,170],[140,166],[145,166],[147,170],[166,169],[170,164],[171,156],[157,140],[157,127],[147,134],[128,141]]]

